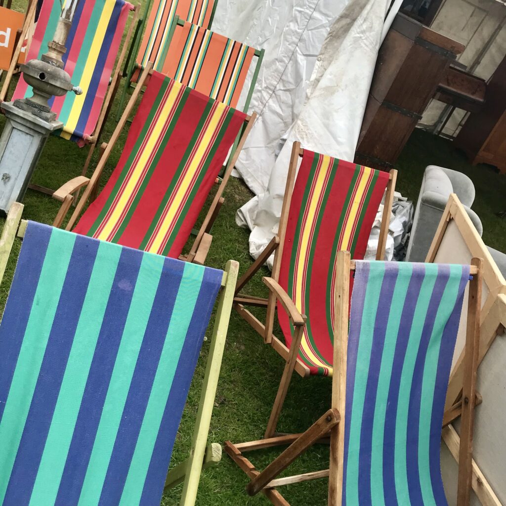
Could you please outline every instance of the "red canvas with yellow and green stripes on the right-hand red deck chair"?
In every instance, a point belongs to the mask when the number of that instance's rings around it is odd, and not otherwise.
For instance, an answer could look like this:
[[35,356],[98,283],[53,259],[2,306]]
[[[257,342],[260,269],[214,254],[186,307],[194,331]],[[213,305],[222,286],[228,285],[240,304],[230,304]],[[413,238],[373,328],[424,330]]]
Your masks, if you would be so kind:
[[[307,316],[299,359],[311,374],[332,373],[335,259],[363,259],[389,174],[304,150],[293,188],[279,283]],[[278,302],[279,304],[279,302]],[[293,328],[278,311],[287,346]]]

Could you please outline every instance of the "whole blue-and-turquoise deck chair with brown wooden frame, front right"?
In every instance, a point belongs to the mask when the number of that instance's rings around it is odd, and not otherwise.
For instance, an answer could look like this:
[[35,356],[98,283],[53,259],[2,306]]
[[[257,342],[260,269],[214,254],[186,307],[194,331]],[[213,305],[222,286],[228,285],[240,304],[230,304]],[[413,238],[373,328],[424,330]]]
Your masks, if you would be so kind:
[[[333,362],[339,374],[332,377],[331,408],[302,435],[226,443],[227,453],[251,479],[248,493],[264,491],[274,504],[287,505],[277,485],[328,477],[329,506],[447,506],[441,433],[448,423],[446,389],[470,283],[466,402],[455,406],[456,414],[450,412],[461,417],[457,506],[468,506],[482,260],[473,259],[471,266],[357,261],[355,267],[349,252],[340,251],[336,264]],[[293,321],[303,318],[297,308],[289,309]],[[287,368],[283,378],[289,381]],[[328,433],[327,470],[276,479]],[[278,444],[290,446],[261,473],[241,452]]]

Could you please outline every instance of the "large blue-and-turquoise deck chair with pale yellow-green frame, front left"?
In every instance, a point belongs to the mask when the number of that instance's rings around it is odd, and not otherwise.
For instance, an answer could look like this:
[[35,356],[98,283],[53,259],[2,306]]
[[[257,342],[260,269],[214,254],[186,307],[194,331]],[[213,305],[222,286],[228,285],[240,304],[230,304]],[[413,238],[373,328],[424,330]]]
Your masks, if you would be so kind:
[[183,464],[181,504],[192,506],[238,264],[224,272],[35,222],[18,228],[22,208],[11,207],[0,259],[3,274],[24,237],[0,325],[0,503],[159,504],[224,287]]

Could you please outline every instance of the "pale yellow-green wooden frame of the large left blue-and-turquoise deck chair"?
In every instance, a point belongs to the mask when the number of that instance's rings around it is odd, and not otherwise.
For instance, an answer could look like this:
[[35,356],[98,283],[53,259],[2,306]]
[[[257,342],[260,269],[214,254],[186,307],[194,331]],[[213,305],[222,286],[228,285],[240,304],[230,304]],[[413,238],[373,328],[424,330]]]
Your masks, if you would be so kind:
[[[0,237],[0,283],[4,278],[14,240],[16,237],[22,239],[26,231],[28,222],[21,219],[22,213],[23,204],[15,202],[11,206]],[[221,459],[221,446],[218,443],[207,446],[207,435],[213,413],[238,270],[239,264],[234,260],[229,260],[223,273],[222,289],[218,296],[218,309],[206,361],[190,456],[179,465],[172,467],[168,471],[165,481],[165,491],[184,481],[180,500],[180,504],[184,506],[195,504],[202,470],[218,463]]]

